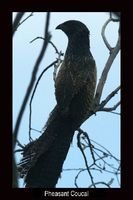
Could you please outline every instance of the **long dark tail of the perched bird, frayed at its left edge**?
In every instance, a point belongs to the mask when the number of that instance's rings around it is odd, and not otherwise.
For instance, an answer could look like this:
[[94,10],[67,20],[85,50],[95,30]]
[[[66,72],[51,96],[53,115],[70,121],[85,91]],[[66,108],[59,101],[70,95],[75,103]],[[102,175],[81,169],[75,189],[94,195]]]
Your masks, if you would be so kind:
[[63,117],[56,106],[39,139],[28,144],[19,164],[27,188],[54,188],[67,156],[74,129],[71,119]]

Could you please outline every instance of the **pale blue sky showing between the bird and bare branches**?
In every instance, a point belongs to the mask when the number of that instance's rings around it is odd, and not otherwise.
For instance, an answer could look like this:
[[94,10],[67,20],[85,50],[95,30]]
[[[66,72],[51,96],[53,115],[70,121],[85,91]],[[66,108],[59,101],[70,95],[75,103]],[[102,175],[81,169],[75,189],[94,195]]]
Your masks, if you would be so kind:
[[[26,13],[23,19],[30,13]],[[13,20],[16,13],[13,13]],[[67,20],[79,20],[83,22],[90,30],[90,48],[97,66],[97,82],[101,76],[102,70],[109,56],[102,36],[101,29],[109,15],[106,12],[52,12],[50,18],[49,31],[52,34],[51,41],[56,45],[58,50],[65,53],[67,47],[67,37],[61,30],[55,30],[56,26]],[[18,112],[22,104],[24,94],[29,84],[34,63],[38,57],[42,46],[42,40],[36,40],[29,43],[36,37],[43,37],[46,13],[34,12],[33,16],[27,19],[16,31],[13,38],[13,128],[16,123]],[[118,23],[110,23],[106,30],[106,37],[111,44],[115,46],[118,37]],[[50,63],[56,60],[57,54],[49,44],[45,56],[40,64],[37,76]],[[120,85],[120,53],[114,60],[108,79],[104,87],[101,100]],[[32,128],[42,130],[48,119],[49,113],[56,104],[54,96],[53,68],[50,68],[39,82],[32,103]],[[120,93],[108,103],[108,106],[115,105],[120,100]],[[115,110],[120,113],[120,107]],[[29,102],[24,112],[22,123],[19,130],[18,140],[22,144],[27,144],[29,126]],[[120,115],[98,112],[89,120],[84,122],[81,128],[89,134],[89,137],[105,148],[107,148],[114,156],[120,159]],[[32,138],[38,138],[40,133],[32,131]],[[20,161],[21,155],[16,156],[17,163]],[[113,162],[113,161],[112,161]],[[113,163],[114,164],[114,163]],[[115,164],[114,164],[115,165]],[[84,168],[84,160],[81,152],[77,148],[76,133],[73,138],[69,153],[63,165],[63,169]],[[59,179],[56,187],[75,187],[74,177],[78,171],[64,171]],[[101,174],[94,172],[96,181],[107,181],[113,177],[112,174]],[[88,175],[83,172],[78,180],[79,187],[88,186]],[[19,186],[24,187],[23,180],[19,180]],[[101,186],[100,186],[101,187]],[[103,186],[102,186],[103,187]],[[105,186],[104,186],[105,187]],[[120,187],[116,178],[111,187]]]

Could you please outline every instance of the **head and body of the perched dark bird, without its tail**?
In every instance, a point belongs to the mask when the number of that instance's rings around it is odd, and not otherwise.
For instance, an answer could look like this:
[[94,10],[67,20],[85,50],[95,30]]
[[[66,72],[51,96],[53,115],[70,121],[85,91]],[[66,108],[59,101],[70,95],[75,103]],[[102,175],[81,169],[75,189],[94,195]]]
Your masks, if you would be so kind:
[[55,81],[59,109],[69,113],[78,128],[91,110],[96,86],[96,66],[90,52],[89,30],[81,22],[70,20],[59,26],[68,36],[65,59]]

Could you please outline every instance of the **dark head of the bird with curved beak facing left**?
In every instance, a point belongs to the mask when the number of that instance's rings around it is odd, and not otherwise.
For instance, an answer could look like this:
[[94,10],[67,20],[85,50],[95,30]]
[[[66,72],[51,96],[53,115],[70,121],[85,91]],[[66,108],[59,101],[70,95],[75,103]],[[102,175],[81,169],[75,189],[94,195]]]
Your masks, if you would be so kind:
[[89,35],[88,28],[80,21],[69,20],[56,27],[56,29],[61,29],[68,38],[73,37],[75,34],[79,36]]

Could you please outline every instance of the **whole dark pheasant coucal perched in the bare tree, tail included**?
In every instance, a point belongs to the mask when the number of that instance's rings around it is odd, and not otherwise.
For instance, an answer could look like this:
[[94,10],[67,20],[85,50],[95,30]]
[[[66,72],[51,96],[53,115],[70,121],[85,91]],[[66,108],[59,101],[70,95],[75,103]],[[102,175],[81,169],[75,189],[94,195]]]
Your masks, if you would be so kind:
[[73,135],[92,111],[96,65],[90,52],[89,30],[80,21],[66,21],[68,37],[64,61],[55,81],[57,105],[43,134],[27,144],[18,165],[28,188],[54,188],[62,171]]

